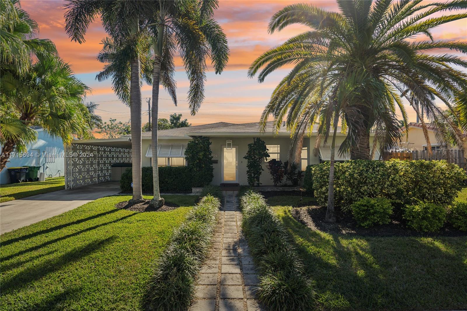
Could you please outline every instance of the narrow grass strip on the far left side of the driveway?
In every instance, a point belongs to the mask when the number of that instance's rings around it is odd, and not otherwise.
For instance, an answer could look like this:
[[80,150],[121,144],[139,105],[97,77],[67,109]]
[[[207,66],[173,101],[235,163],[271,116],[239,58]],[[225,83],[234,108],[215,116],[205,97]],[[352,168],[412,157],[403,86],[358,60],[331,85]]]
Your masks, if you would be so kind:
[[0,203],[63,189],[65,189],[65,177],[47,178],[43,182],[2,184],[0,186]]

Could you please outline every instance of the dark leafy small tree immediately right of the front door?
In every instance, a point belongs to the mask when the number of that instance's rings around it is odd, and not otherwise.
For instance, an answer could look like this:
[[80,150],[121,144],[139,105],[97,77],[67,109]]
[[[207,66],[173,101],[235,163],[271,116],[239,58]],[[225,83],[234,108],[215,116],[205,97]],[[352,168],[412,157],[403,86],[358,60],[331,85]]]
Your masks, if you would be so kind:
[[262,163],[269,156],[266,143],[261,138],[253,138],[248,144],[248,152],[243,158],[247,160],[248,184],[250,186],[260,185],[260,176],[263,171]]

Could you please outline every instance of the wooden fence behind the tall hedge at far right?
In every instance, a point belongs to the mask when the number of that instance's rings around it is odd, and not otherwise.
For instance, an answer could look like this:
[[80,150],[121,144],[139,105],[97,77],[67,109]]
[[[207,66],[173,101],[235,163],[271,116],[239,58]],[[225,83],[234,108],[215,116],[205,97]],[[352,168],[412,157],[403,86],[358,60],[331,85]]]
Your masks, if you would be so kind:
[[464,170],[467,170],[467,159],[464,157],[464,150],[433,150],[431,154],[428,150],[409,150],[404,152],[392,152],[387,158],[399,160],[427,160],[438,161],[446,160],[448,163],[459,165]]

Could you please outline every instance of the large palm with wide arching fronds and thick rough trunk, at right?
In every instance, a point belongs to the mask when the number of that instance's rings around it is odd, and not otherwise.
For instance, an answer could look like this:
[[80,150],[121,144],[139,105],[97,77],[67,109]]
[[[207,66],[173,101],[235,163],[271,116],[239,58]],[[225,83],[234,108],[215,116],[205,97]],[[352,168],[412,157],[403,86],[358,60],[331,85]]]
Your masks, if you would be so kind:
[[[308,109],[310,96],[355,73],[363,89],[354,109],[361,114],[363,127],[349,132],[352,139],[344,146],[350,150],[352,159],[370,158],[371,129],[376,131],[375,140],[382,153],[397,146],[400,141],[397,110],[404,125],[408,124],[401,97],[412,104],[419,117],[422,109],[425,111],[429,122],[437,127],[440,141],[449,145],[452,138],[461,144],[459,127],[436,106],[435,98],[453,110],[453,102],[467,88],[467,75],[452,65],[466,68],[467,61],[450,54],[433,56],[423,51],[467,52],[467,43],[433,40],[431,34],[434,27],[467,17],[466,13],[440,17],[433,14],[465,8],[467,2],[339,0],[338,4],[340,13],[310,4],[293,4],[271,18],[269,33],[291,24],[302,24],[311,30],[268,50],[250,66],[250,77],[264,67],[258,75],[258,81],[263,82],[276,69],[294,64],[274,91],[262,121],[273,114],[279,127],[287,114],[291,126]],[[429,40],[410,41],[416,35],[426,35]],[[418,104],[414,105],[412,99]],[[345,116],[344,122],[347,120]],[[425,120],[421,118],[421,122],[429,144]]]

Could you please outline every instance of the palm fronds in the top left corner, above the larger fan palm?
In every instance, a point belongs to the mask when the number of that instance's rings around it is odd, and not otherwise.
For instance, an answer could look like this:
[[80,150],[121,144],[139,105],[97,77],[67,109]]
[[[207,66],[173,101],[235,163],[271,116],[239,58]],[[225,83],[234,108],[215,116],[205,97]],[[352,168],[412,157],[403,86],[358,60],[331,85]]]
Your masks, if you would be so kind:
[[55,53],[49,39],[37,39],[37,23],[22,10],[19,0],[0,0],[0,68],[1,71],[26,71],[31,66],[30,54]]

